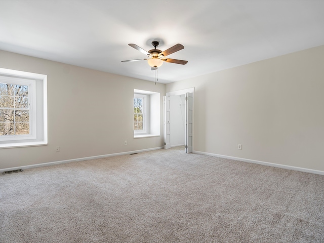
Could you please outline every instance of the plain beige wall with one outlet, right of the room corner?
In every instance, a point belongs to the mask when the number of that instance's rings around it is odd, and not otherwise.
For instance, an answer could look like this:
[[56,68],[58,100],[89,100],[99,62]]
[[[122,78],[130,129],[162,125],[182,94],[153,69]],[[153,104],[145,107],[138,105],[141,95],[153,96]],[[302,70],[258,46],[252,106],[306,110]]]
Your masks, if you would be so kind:
[[195,151],[324,171],[324,46],[171,83],[166,92],[191,87]]

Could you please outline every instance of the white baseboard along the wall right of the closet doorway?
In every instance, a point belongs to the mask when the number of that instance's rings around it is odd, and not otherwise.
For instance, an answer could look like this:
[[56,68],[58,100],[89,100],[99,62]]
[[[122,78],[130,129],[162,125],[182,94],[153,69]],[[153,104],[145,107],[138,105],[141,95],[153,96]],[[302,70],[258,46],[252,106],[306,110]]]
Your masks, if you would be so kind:
[[274,163],[269,163],[269,162],[264,162],[264,161],[259,161],[259,160],[238,158],[238,157],[232,157],[232,156],[215,154],[215,153],[206,153],[206,152],[200,152],[200,151],[193,151],[193,153],[209,155],[209,156],[214,156],[214,157],[220,157],[220,158],[228,158],[228,159],[232,159],[232,160],[238,160],[238,161],[243,161],[243,162],[248,162],[248,163],[253,163],[253,164],[259,164],[259,165],[263,165],[263,166],[272,166],[272,167],[283,168],[283,169],[288,169],[288,170],[302,171],[302,172],[308,172],[308,173],[312,173],[312,174],[324,175],[324,171],[317,171],[317,170],[312,170],[312,169],[307,169],[307,168],[286,166],[286,165],[274,164]]

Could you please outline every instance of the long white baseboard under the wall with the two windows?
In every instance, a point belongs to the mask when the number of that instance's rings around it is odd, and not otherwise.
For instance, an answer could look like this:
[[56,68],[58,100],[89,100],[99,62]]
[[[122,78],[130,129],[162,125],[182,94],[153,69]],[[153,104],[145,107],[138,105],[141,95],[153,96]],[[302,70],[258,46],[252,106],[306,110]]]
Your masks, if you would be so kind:
[[157,150],[157,149],[162,149],[162,148],[163,147],[148,148],[148,149],[141,149],[141,150],[135,150],[135,151],[121,152],[121,153],[111,153],[111,154],[84,157],[84,158],[67,159],[67,160],[54,161],[54,162],[42,163],[42,164],[36,164],[36,165],[29,165],[29,166],[19,166],[19,167],[7,168],[7,169],[0,169],[0,173],[3,173],[5,171],[15,171],[15,170],[18,170],[18,169],[26,170],[26,169],[37,168],[37,167],[53,166],[53,165],[70,163],[70,162],[74,162],[74,161],[83,161],[83,160],[96,159],[96,158],[105,158],[105,157],[111,157],[111,156],[117,156],[117,155],[125,155],[125,154],[130,154],[130,153],[140,153],[140,152],[146,152],[146,151]]

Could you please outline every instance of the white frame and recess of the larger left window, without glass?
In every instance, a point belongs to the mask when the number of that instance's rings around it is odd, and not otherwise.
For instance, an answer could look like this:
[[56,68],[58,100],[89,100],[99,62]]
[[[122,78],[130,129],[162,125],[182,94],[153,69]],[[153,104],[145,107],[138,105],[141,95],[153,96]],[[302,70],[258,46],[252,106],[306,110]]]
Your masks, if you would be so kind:
[[47,145],[47,75],[0,68],[0,82],[28,85],[29,135],[0,136],[0,149]]

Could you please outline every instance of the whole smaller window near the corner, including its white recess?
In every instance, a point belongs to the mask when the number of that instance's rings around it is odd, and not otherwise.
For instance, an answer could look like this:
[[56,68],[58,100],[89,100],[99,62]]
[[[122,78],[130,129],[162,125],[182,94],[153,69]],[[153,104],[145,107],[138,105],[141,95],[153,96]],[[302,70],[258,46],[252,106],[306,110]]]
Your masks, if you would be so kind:
[[134,138],[160,135],[160,94],[134,90]]

